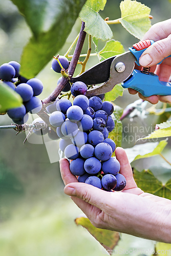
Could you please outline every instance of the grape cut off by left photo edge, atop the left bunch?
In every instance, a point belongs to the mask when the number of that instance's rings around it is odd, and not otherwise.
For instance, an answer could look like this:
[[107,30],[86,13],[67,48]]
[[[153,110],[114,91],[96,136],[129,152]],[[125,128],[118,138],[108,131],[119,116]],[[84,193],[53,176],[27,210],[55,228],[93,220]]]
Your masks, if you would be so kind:
[[0,79],[5,81],[11,81],[15,76],[15,69],[8,63],[4,63],[0,67]]

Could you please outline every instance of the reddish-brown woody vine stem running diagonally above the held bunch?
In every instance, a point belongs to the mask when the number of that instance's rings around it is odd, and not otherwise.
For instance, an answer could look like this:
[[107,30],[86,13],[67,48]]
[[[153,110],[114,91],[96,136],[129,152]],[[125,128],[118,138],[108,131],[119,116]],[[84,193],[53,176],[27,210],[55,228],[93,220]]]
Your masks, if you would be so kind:
[[[84,44],[84,40],[86,38],[86,32],[83,31],[84,27],[85,27],[85,23],[82,22],[81,30],[79,33],[76,47],[75,47],[75,51],[74,51],[73,57],[71,59],[70,66],[68,68],[68,73],[70,74],[70,78],[74,74],[74,71],[77,66],[77,62],[78,62],[78,59],[79,59],[79,56],[80,56],[80,53],[81,53],[81,50],[82,50],[82,47]],[[47,104],[51,101],[54,101],[57,98],[57,96],[60,94],[60,92],[63,90],[63,88],[65,88],[67,83],[68,83],[68,78],[62,77],[60,83],[57,85],[57,87],[54,89],[54,91],[46,99],[42,100],[42,103]]]

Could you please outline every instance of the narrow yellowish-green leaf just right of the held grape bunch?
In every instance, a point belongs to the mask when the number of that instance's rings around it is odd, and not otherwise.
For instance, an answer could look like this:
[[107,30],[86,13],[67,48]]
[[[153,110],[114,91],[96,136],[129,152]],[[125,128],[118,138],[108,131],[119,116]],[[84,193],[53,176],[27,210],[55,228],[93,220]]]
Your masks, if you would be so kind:
[[[123,113],[123,109],[120,106],[114,106],[114,112],[112,114],[112,118],[115,121],[115,128],[114,130],[109,133],[108,138],[112,139],[116,146],[121,146],[122,143],[122,122],[120,121],[120,117]],[[113,153],[113,156],[115,153]]]

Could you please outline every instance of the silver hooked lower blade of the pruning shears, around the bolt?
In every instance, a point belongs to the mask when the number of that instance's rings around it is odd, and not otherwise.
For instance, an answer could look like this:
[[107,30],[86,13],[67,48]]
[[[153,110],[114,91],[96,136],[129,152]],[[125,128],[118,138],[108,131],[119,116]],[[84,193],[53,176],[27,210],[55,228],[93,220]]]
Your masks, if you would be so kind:
[[[111,63],[109,80],[97,88],[88,90],[86,96],[94,96],[112,91],[116,84],[121,83],[129,78],[134,70],[135,61],[136,58],[130,51],[116,55]],[[125,70],[121,73],[115,70],[115,66],[118,62],[122,62],[125,65]]]

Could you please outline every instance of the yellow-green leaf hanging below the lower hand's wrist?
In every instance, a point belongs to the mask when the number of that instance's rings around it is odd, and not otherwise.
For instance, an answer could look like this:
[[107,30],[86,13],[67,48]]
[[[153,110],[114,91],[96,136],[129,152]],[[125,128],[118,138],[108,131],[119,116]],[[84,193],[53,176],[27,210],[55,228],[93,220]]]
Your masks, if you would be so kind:
[[[120,239],[119,232],[97,228],[88,218],[79,217],[75,220],[77,225],[86,228],[89,233],[106,249],[112,251]],[[110,254],[111,255],[111,254]]]

